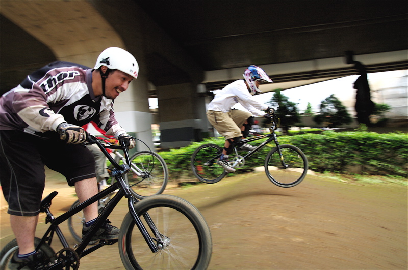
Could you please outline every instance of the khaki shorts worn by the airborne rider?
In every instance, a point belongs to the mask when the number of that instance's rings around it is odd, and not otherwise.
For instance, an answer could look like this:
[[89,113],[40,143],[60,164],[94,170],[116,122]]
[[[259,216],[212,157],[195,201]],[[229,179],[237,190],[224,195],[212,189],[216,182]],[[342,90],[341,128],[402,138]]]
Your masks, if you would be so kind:
[[241,127],[251,117],[251,113],[232,109],[229,112],[207,111],[207,119],[210,124],[225,137],[225,140],[242,137]]

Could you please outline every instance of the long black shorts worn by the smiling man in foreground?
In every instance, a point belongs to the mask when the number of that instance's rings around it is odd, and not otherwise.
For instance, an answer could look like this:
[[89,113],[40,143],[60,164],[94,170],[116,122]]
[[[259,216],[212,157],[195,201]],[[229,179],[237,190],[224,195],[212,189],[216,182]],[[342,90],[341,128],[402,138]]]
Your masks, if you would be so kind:
[[96,177],[94,157],[85,146],[16,130],[0,130],[0,164],[8,213],[16,216],[39,214],[45,186],[44,165],[64,175],[69,186]]

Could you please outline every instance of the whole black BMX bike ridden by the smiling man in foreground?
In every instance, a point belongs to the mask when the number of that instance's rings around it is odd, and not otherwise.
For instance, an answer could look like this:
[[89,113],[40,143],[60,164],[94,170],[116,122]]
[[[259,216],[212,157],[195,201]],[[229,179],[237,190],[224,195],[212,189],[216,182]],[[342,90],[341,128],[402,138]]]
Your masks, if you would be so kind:
[[[36,250],[44,254],[41,269],[78,269],[82,257],[116,242],[125,269],[206,269],[211,259],[212,240],[210,229],[198,209],[172,195],[152,195],[138,200],[124,179],[124,174],[130,170],[128,164],[131,164],[126,146],[105,145],[92,135],[88,143],[96,144],[114,164],[111,175],[115,182],[58,217],[54,217],[49,210],[57,191],[41,201],[41,212],[46,214],[45,222],[49,223],[45,234],[35,238]],[[123,151],[126,162],[115,162],[106,148]],[[117,189],[87,234],[78,244],[70,247],[59,225]],[[123,197],[127,199],[129,212],[120,226],[119,239],[100,240],[98,244],[87,248]],[[58,252],[52,248],[55,238],[63,246]],[[15,239],[6,244],[0,252],[0,269],[8,269],[8,262],[17,251]]]

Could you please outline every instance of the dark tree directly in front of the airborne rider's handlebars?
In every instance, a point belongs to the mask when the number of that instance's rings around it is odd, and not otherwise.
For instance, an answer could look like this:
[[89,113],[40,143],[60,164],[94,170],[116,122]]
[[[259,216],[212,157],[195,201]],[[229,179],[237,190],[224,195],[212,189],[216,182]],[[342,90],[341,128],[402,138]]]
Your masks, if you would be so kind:
[[269,102],[271,107],[276,109],[276,117],[281,119],[283,135],[288,135],[289,128],[300,122],[300,114],[296,103],[288,99],[288,97],[281,94],[281,89],[276,89]]

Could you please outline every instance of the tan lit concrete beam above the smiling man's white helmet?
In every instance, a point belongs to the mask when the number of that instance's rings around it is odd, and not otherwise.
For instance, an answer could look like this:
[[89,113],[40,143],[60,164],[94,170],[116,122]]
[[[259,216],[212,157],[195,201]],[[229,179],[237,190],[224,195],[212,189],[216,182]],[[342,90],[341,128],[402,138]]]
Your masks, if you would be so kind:
[[92,67],[107,47],[124,48],[114,29],[86,0],[2,0],[0,12],[45,44],[57,59]]

